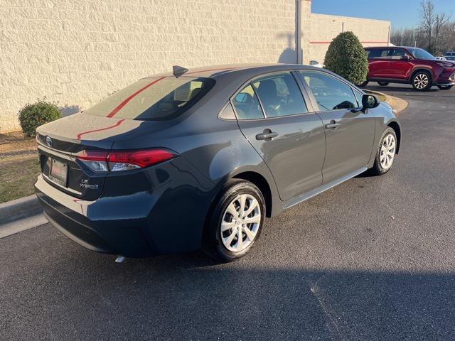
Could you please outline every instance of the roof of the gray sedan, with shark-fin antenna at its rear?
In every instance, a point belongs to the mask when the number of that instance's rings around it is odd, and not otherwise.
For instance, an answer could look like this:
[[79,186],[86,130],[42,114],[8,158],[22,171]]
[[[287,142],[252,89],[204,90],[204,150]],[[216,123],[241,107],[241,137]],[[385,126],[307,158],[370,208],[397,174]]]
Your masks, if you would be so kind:
[[[279,70],[289,70],[289,69],[311,69],[311,70],[321,70],[319,67],[312,67],[309,65],[301,65],[301,64],[278,64],[278,63],[271,63],[271,64],[228,64],[228,65],[209,65],[205,67],[192,67],[187,72],[185,72],[181,77],[210,77],[215,78],[219,77],[220,75],[224,75],[228,72],[236,73],[240,75],[242,73],[267,73],[267,72],[274,72]],[[149,77],[163,77],[163,76],[173,76],[173,73],[170,72],[163,72],[157,75],[151,75]],[[144,78],[149,78],[144,77]]]

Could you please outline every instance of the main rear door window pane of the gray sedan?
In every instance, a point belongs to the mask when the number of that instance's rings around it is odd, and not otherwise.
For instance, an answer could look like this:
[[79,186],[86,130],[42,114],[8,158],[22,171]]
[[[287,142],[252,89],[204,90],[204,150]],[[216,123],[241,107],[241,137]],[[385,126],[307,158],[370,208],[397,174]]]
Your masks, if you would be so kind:
[[252,82],[266,117],[289,116],[308,112],[299,86],[291,72],[260,77]]

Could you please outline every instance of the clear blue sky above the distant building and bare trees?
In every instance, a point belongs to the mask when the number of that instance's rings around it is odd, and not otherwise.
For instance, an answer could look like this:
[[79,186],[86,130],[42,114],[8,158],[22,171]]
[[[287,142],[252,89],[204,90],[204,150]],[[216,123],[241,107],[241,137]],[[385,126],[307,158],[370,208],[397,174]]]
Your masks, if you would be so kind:
[[[413,28],[419,22],[419,4],[420,0],[313,0],[311,12],[388,20],[392,28]],[[434,0],[434,6],[455,20],[455,0]]]

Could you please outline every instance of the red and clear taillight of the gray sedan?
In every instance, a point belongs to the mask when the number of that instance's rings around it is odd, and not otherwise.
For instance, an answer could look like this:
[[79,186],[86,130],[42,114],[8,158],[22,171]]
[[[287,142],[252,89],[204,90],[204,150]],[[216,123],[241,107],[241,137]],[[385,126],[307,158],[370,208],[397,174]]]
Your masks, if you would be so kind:
[[146,149],[139,151],[82,151],[77,159],[95,172],[128,171],[161,163],[178,154],[167,149]]

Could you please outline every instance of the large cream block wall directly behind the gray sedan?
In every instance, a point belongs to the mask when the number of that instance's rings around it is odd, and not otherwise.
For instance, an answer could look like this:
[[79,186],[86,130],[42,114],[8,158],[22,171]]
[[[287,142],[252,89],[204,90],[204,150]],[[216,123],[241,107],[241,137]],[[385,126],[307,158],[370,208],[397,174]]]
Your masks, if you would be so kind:
[[[304,25],[310,4],[302,0]],[[295,0],[0,0],[0,131],[18,129],[18,110],[38,97],[77,112],[172,65],[296,63],[295,8]]]

